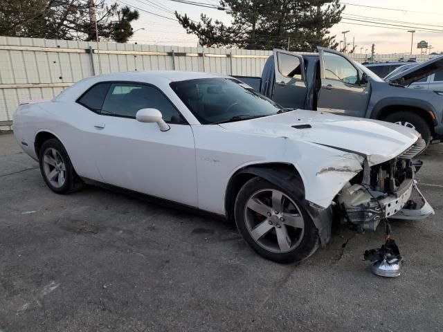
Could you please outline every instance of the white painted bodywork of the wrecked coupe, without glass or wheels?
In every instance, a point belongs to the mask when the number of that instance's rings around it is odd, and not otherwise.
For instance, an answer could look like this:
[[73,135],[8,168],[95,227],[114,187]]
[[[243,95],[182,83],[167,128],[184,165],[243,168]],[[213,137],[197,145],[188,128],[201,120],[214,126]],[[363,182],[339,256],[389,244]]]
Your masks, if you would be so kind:
[[[51,102],[22,104],[15,113],[15,136],[37,159],[35,136],[48,131],[62,142],[79,176],[217,214],[226,214],[228,181],[246,165],[293,165],[302,177],[307,201],[327,208],[361,171],[365,158],[370,165],[383,163],[419,137],[396,124],[303,110],[200,124],[169,84],[207,77],[226,76],[153,71],[90,77]],[[106,81],[157,86],[190,125],[170,124],[169,131],[160,131],[155,123],[99,115],[75,102],[90,86]],[[298,124],[311,128],[291,127]]]

